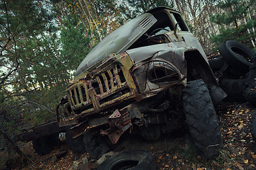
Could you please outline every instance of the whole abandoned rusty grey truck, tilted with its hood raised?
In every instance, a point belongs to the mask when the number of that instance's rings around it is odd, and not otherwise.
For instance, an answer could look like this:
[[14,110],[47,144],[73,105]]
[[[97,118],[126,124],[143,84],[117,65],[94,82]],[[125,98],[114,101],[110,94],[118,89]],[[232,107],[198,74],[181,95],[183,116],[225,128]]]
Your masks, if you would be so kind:
[[74,146],[83,145],[92,159],[134,130],[156,140],[183,123],[206,159],[223,147],[214,104],[226,94],[201,44],[171,8],[154,8],[107,35],[80,63],[66,93],[59,125],[73,125]]

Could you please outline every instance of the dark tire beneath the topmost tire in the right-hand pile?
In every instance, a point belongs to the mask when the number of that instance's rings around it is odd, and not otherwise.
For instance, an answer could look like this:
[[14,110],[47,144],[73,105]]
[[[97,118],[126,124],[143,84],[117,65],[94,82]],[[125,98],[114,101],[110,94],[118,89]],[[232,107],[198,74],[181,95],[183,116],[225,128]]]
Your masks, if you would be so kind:
[[220,87],[228,96],[226,101],[245,101],[243,91],[245,90],[245,79],[220,79]]

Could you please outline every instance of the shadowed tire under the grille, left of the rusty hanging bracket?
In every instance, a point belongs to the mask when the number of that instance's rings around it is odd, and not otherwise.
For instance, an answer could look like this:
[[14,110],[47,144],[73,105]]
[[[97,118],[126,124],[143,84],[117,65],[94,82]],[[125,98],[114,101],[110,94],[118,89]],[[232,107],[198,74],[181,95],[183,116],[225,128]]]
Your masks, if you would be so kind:
[[83,135],[85,150],[92,159],[99,159],[102,154],[110,152],[110,147],[101,137],[100,132],[87,131]]

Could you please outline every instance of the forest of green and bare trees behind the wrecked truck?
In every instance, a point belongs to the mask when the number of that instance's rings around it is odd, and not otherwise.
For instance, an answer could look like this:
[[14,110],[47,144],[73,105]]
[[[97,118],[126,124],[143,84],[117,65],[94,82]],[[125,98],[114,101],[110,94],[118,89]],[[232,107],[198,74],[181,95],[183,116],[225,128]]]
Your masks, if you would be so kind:
[[100,40],[156,6],[181,11],[206,54],[225,40],[255,50],[256,0],[1,0],[0,149],[55,119],[75,69]]

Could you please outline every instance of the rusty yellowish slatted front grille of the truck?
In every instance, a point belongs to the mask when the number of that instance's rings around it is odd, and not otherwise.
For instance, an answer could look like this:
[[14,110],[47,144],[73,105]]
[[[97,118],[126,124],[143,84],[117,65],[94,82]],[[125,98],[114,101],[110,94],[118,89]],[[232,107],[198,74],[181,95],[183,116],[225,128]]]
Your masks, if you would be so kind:
[[93,79],[80,79],[70,84],[66,91],[76,114],[100,110],[134,94],[127,85],[124,68],[119,64]]

